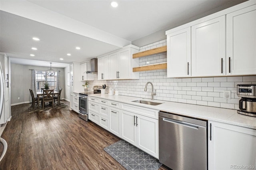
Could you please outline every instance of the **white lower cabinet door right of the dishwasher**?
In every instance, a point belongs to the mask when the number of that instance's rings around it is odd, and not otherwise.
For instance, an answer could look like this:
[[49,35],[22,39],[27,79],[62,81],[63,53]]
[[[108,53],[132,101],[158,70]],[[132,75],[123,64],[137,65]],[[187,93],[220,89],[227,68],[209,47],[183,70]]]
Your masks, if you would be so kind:
[[254,169],[256,130],[208,121],[208,169]]

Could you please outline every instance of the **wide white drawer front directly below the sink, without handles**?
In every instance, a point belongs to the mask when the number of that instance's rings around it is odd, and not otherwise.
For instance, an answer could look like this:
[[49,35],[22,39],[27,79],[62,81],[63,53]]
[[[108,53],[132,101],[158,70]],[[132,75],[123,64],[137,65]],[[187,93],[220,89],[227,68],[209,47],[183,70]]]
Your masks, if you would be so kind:
[[158,119],[158,110],[149,109],[146,107],[140,107],[140,106],[136,106],[136,105],[129,105],[129,104],[125,104],[125,103],[122,103],[121,109],[125,110],[125,111],[132,112],[132,113],[137,113],[139,115]]

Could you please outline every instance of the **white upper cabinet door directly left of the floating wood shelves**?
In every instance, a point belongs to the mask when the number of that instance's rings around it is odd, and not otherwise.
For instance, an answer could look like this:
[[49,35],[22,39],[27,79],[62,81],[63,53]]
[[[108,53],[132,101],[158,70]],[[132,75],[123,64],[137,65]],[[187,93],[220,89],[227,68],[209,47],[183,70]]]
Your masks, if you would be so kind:
[[118,69],[118,79],[130,79],[131,78],[131,59],[130,48],[124,49],[119,52],[119,69]]

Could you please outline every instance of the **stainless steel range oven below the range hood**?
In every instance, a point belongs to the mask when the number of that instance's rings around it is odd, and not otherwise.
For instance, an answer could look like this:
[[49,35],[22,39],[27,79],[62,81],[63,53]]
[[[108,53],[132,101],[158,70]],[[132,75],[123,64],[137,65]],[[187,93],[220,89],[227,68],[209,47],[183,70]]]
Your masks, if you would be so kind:
[[79,93],[79,117],[88,121],[88,95],[100,93],[102,86],[94,86],[93,91]]

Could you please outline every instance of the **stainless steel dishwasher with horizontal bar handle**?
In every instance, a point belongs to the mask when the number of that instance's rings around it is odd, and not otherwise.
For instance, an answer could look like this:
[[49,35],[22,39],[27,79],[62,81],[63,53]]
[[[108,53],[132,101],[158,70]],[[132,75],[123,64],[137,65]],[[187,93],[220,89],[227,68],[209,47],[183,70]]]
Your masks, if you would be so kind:
[[207,121],[160,111],[159,162],[173,170],[206,170]]

